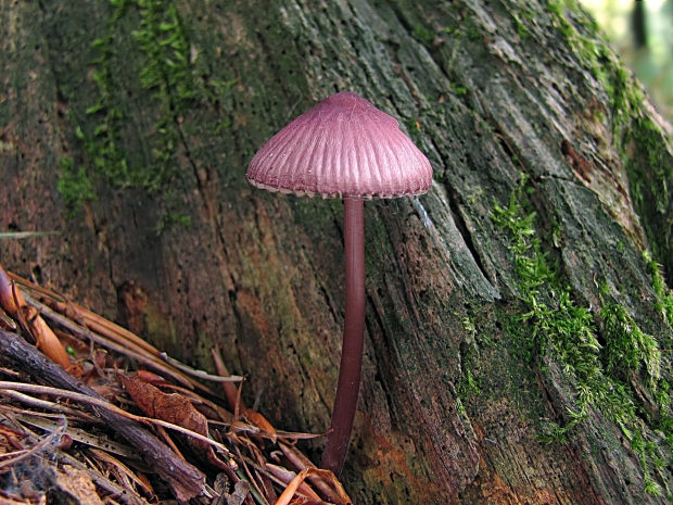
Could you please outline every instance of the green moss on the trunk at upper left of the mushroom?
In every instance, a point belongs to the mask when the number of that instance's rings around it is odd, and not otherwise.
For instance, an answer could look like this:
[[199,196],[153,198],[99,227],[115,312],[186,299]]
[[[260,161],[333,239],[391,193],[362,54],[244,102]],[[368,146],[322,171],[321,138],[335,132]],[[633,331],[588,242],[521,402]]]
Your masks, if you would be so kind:
[[[92,42],[97,56],[91,62],[90,77],[98,99],[86,109],[82,117],[72,116],[75,136],[88,159],[88,167],[79,171],[79,178],[100,178],[116,188],[138,188],[158,194],[156,229],[164,230],[176,223],[188,226],[190,218],[180,210],[181,191],[178,190],[183,176],[177,161],[178,151],[189,156],[181,124],[189,111],[200,103],[214,104],[234,81],[206,81],[205,72],[196,67],[199,51],[191,43],[186,24],[172,0],[111,0],[110,3],[113,14],[105,36]],[[122,20],[125,33],[120,36]],[[137,88],[153,93],[158,111],[153,132],[147,140],[148,162],[131,162],[125,150],[129,142],[126,136],[132,128],[123,112],[119,96],[124,91],[111,63],[115,58],[115,40],[127,36],[128,25],[134,23],[138,24],[138,29],[132,31],[132,40],[139,53],[131,60],[143,62],[137,74]],[[217,123],[216,130],[228,126],[225,118]],[[73,174],[68,174],[72,179]],[[92,190],[86,194],[90,198]],[[71,199],[69,204],[75,209],[81,200]]]

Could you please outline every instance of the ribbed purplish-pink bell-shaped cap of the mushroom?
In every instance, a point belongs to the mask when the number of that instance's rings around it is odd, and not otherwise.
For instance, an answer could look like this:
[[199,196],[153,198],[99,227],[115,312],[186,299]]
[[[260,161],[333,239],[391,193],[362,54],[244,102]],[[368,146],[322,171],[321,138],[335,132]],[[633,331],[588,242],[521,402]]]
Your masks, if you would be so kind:
[[394,117],[342,91],[266,142],[250,163],[247,180],[299,195],[393,198],[428,191],[432,167]]

